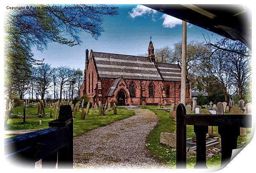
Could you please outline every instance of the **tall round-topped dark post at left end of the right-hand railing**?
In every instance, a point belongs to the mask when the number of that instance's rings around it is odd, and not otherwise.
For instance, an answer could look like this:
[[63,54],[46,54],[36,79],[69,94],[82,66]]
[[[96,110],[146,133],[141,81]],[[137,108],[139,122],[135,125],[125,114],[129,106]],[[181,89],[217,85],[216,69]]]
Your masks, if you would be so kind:
[[176,110],[176,168],[186,168],[186,143],[187,133],[184,125],[184,115],[186,115],[185,106],[180,103]]

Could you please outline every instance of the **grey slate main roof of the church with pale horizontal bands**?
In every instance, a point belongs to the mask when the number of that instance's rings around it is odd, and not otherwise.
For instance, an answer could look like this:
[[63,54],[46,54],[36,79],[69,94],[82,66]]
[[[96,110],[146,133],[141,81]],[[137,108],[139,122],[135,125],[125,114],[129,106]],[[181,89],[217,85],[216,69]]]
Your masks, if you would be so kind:
[[180,81],[181,70],[176,64],[154,63],[149,57],[143,56],[95,51],[93,56],[100,78],[123,76],[124,79]]

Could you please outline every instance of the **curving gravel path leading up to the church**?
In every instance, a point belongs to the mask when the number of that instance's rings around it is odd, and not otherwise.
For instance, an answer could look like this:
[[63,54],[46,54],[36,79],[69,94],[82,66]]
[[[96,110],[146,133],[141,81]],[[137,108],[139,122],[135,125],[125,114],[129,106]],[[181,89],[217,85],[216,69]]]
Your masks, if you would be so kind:
[[150,156],[146,137],[158,122],[149,110],[73,138],[73,168],[165,168]]

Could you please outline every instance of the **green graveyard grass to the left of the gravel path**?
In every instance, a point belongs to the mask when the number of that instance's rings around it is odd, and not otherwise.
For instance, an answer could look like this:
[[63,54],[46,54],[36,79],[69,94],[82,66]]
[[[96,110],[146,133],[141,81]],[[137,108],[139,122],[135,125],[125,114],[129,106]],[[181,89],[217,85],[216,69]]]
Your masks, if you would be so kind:
[[[50,117],[50,106],[45,108],[46,117],[32,117],[26,118],[26,123],[23,124],[23,119],[8,119],[7,126],[5,130],[25,130],[25,129],[45,129],[48,128],[48,122],[53,120]],[[106,126],[120,119],[128,118],[135,115],[133,110],[127,110],[125,108],[117,106],[117,114],[114,111],[105,112],[105,115],[99,116],[99,110],[93,112],[93,109],[89,110],[89,115],[85,115],[85,120],[80,120],[82,110],[76,112],[76,117],[73,118],[73,136],[81,136],[84,133],[96,129],[100,126]],[[23,115],[23,106],[17,106],[13,108],[12,115]],[[26,108],[26,115],[38,115],[37,107]],[[53,116],[53,108],[52,108]],[[39,125],[39,120],[42,121],[42,125]],[[5,136],[9,138],[11,136]]]

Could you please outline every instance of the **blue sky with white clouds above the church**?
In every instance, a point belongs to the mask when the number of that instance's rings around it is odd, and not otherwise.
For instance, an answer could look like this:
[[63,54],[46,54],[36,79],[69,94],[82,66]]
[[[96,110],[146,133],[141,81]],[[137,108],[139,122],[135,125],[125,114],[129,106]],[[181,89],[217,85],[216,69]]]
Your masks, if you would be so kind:
[[[85,67],[85,49],[93,51],[138,55],[145,54],[152,36],[154,48],[172,47],[182,38],[182,21],[142,5],[114,5],[119,7],[118,16],[104,16],[104,32],[95,40],[88,33],[81,33],[81,45],[69,47],[58,43],[48,44],[43,52],[33,49],[34,58],[43,59],[52,67]],[[212,33],[192,24],[187,25],[187,42],[204,41],[201,32]],[[213,35],[212,40],[218,37]]]

